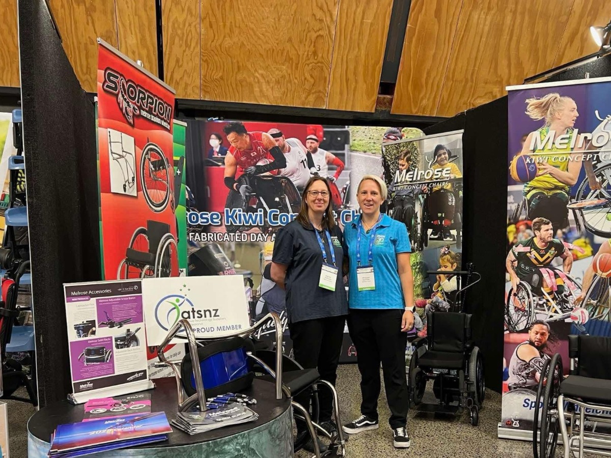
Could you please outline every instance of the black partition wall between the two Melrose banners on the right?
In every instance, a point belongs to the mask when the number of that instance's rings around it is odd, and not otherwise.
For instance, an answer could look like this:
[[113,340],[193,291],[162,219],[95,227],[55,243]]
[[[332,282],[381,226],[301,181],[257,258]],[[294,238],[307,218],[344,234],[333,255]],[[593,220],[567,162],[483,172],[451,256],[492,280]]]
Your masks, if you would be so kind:
[[486,387],[502,388],[503,291],[507,243],[507,97],[425,129],[464,129],[463,263],[481,282],[467,294],[472,331],[485,360]]

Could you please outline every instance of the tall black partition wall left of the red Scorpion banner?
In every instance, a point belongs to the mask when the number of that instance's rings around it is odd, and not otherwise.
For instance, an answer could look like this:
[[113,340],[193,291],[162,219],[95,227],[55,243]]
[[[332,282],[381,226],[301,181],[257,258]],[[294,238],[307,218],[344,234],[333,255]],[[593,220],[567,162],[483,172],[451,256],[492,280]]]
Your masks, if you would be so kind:
[[95,112],[44,0],[19,0],[27,211],[40,406],[65,399],[62,283],[100,280]]

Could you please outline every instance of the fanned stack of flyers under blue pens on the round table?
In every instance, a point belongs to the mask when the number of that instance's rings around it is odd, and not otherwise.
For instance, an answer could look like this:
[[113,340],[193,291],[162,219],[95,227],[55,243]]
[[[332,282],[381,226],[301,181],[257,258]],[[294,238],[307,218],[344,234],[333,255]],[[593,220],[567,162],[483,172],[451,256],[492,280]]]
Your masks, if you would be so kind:
[[255,421],[258,418],[258,413],[244,404],[227,404],[206,412],[200,412],[199,405],[195,405],[187,412],[178,412],[172,424],[188,434],[199,434],[224,426]]

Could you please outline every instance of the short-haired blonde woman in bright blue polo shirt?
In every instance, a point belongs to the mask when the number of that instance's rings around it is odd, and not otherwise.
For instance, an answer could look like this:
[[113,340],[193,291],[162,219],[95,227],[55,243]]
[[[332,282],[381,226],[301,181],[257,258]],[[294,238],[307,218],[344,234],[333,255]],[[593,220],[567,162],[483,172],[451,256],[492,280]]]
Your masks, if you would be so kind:
[[414,278],[407,228],[380,213],[387,194],[384,181],[365,175],[357,189],[362,214],[344,228],[349,260],[348,329],[361,376],[362,415],[345,424],[343,431],[357,434],[378,428],[382,363],[393,445],[408,448],[405,347],[406,332],[414,326]]

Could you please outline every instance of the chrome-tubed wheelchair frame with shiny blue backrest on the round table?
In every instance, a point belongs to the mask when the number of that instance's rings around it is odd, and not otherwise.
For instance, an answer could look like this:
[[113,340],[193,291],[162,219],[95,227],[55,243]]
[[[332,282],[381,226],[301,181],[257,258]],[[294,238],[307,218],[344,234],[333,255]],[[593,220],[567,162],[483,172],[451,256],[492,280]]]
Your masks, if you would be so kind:
[[[320,379],[320,374],[316,369],[304,369],[295,360],[280,352],[257,349],[255,346],[252,335],[264,325],[269,325],[270,320],[274,326],[274,344],[277,349],[280,349],[282,348],[282,323],[276,313],[268,313],[248,329],[214,340],[196,338],[191,324],[186,319],[180,319],[157,347],[159,363],[156,363],[156,366],[169,366],[174,372],[178,390],[178,411],[199,410],[203,414],[207,410],[205,407],[207,398],[227,391],[248,393],[255,378],[271,382],[274,384],[276,399],[282,399],[284,394],[291,399],[294,409],[301,412],[301,415],[294,416],[305,422],[313,438],[314,455],[317,458],[346,456],[346,441],[342,428],[338,427],[336,433],[329,434],[316,423],[318,412],[316,393],[318,385],[321,385],[331,391],[334,420],[338,426],[342,424],[337,392],[333,385]],[[164,349],[179,334],[186,336],[189,353],[181,361],[168,361]],[[313,390],[314,393],[315,421],[301,404],[292,399],[296,394],[305,390]],[[321,453],[318,447],[316,431],[331,440],[324,453]],[[307,437],[303,439],[303,442],[294,444],[295,452],[304,445],[305,440]]]

